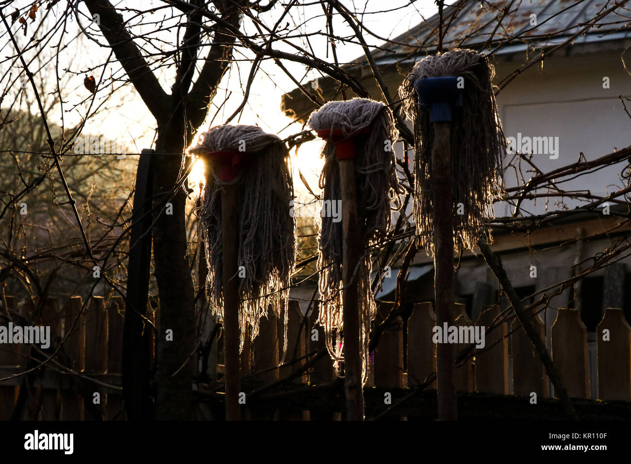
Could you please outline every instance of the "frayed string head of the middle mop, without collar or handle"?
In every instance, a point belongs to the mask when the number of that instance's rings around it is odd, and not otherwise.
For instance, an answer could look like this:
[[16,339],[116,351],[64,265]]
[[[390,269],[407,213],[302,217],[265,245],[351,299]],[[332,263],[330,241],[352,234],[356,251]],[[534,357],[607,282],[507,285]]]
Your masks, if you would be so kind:
[[[370,128],[369,134],[361,136],[362,146],[357,146],[355,158],[355,183],[357,188],[357,216],[360,230],[360,262],[357,279],[359,310],[362,319],[362,381],[368,377],[370,322],[377,314],[375,299],[370,290],[369,247],[384,237],[390,228],[391,201],[400,208],[400,187],[396,176],[394,142],[398,136],[394,117],[386,105],[353,98],[345,102],[329,102],[312,113],[308,124],[314,131],[341,129],[345,135],[353,135],[360,129]],[[339,165],[335,144],[327,141],[322,148],[324,167],[320,175],[323,189],[323,209],[331,201],[340,201]],[[391,200],[392,198],[392,200]],[[330,211],[330,210],[329,210]],[[342,317],[342,221],[333,222],[330,214],[316,218],[319,226],[318,269],[320,314],[318,322],[324,327],[326,347],[333,358],[333,366],[339,376],[340,361],[343,360],[343,317]],[[346,284],[346,282],[344,283]]]

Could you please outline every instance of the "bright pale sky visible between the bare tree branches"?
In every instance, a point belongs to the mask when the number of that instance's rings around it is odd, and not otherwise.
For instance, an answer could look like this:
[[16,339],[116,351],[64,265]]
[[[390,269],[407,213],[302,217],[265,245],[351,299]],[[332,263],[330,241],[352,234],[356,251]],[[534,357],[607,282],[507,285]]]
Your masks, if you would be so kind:
[[[168,8],[163,8],[165,7],[164,1],[119,0],[112,1],[112,3],[115,6],[134,8],[137,11],[156,8],[153,13],[144,13],[142,17],[139,17],[135,11],[125,11],[123,14],[129,29],[134,34],[142,35],[146,39],[140,43],[144,51],[171,51],[177,44],[177,40],[181,40],[184,31],[180,27],[179,21],[169,21],[168,18],[172,13]],[[326,31],[326,16],[324,16],[321,4],[313,0],[297,0],[296,3],[297,5],[293,6],[283,19],[283,22],[288,23],[290,30],[295,27],[298,28],[297,31],[292,32],[292,36],[295,37],[295,39],[292,39],[293,44],[304,49],[310,48],[316,56],[333,61],[328,39],[318,35],[319,32]],[[363,12],[361,15],[358,14],[363,25],[376,35],[388,38],[397,37],[410,27],[422,22],[423,18],[428,18],[437,11],[433,0],[343,0],[341,3],[349,9]],[[447,1],[446,3],[450,4],[452,2]],[[8,14],[13,8],[17,7],[20,8],[23,14],[27,14],[31,4],[32,1],[29,0],[16,0],[11,6],[4,8],[6,10],[4,13]],[[261,21],[269,28],[273,27],[284,8],[284,4],[286,4],[286,1],[278,1],[277,6],[271,11],[261,14]],[[44,82],[43,85],[46,91],[40,92],[40,97],[45,107],[50,104],[52,98],[56,95],[58,84],[59,88],[61,88],[63,104],[62,106],[59,102],[54,104],[54,110],[50,112],[48,118],[49,123],[61,125],[61,116],[63,116],[65,128],[68,129],[85,118],[88,110],[94,110],[99,105],[105,105],[107,107],[105,110],[102,110],[94,117],[88,118],[82,135],[103,135],[109,140],[129,147],[127,153],[139,153],[143,148],[152,148],[156,128],[155,120],[138,94],[133,90],[133,86],[126,85],[123,88],[119,88],[121,81],[112,83],[110,80],[112,76],[119,80],[126,79],[126,76],[122,73],[121,66],[115,61],[115,58],[110,56],[110,49],[97,44],[98,41],[103,42],[104,39],[97,25],[91,21],[92,18],[88,14],[85,4],[78,3],[78,15],[71,15],[69,18],[64,19],[62,12],[65,8],[65,2],[56,3],[50,9],[45,8],[42,4],[41,8],[38,9],[36,19],[27,21],[28,35],[22,33],[18,22],[11,27],[16,40],[21,44],[21,49],[26,49],[24,56],[30,62],[29,68],[35,74],[35,80]],[[389,11],[382,11],[385,8]],[[155,32],[160,28],[162,28],[161,32]],[[167,30],[163,30],[165,28]],[[53,29],[54,33],[47,33],[50,29]],[[81,30],[92,32],[94,35],[86,37]],[[257,32],[249,18],[246,18],[242,24],[242,30],[247,34]],[[333,30],[336,35],[343,37],[353,34],[351,28],[346,25],[343,18],[339,15],[334,15],[333,17]],[[304,37],[299,37],[302,34],[309,35],[309,43],[305,41]],[[3,40],[0,53],[4,54],[4,56],[11,56],[15,53],[13,45],[8,40],[6,33],[2,35],[7,40]],[[44,47],[27,49],[27,40],[31,37],[44,39],[46,41],[44,42]],[[383,43],[382,40],[376,39],[369,33],[364,34],[364,39],[370,46],[382,45]],[[62,45],[62,51],[59,52],[59,56],[55,54],[54,45],[57,43]],[[273,46],[281,51],[296,52],[295,48],[283,42],[274,42]],[[40,49],[42,49],[42,52],[35,56]],[[336,51],[340,64],[363,56],[363,49],[358,44],[339,42],[336,45]],[[209,117],[203,126],[199,128],[199,131],[208,130],[211,122],[213,125],[225,122],[227,117],[237,109],[242,102],[242,85],[247,81],[253,58],[253,54],[244,49],[244,47],[235,47],[233,49],[234,61],[225,78],[221,81],[220,89],[209,110]],[[34,59],[34,61],[31,62],[30,59]],[[107,59],[110,59],[112,63],[103,68],[103,63]],[[8,64],[10,64],[10,61],[2,61],[0,68]],[[200,60],[199,66],[201,64]],[[314,69],[306,71],[302,64],[288,61],[283,61],[283,64],[300,83],[307,83],[321,76]],[[14,79],[19,84],[17,76],[19,73],[23,73],[23,69],[21,69],[21,66],[15,66],[15,68],[9,69],[9,71],[15,74],[16,77]],[[4,71],[4,68],[0,69],[0,71]],[[175,66],[159,67],[155,70],[155,73],[162,84],[162,88],[169,93],[175,76]],[[59,76],[59,80],[57,80],[57,76]],[[83,85],[83,79],[86,76],[93,76],[96,80],[97,93],[94,99]],[[23,90],[20,90],[19,85],[15,87],[16,92],[32,92],[30,86]],[[256,124],[265,131],[278,134],[281,138],[300,132],[302,125],[298,123],[292,124],[292,120],[280,110],[281,96],[294,88],[295,84],[292,80],[272,60],[264,60],[256,74],[249,99],[241,116],[233,119],[231,124]],[[113,94],[111,92],[112,89],[115,89]],[[227,95],[230,95],[230,97],[225,103],[222,103]],[[37,107],[29,107],[26,100],[28,98],[20,100],[22,102],[21,110],[30,110],[33,114],[38,114]],[[29,101],[31,104],[34,102],[32,98]],[[217,111],[219,105],[221,105],[221,109]],[[214,120],[211,121],[213,117]],[[322,160],[319,158],[321,145],[321,141],[305,143],[300,147],[297,156],[292,150],[293,174],[294,179],[296,179],[294,183],[298,194],[301,191],[303,193],[306,192],[302,182],[300,182],[298,169],[300,169],[310,186],[314,190],[317,189],[317,179],[322,167]],[[130,157],[128,162],[130,162],[128,168],[135,170],[137,158]],[[198,178],[203,176],[203,170],[196,169],[194,175]]]

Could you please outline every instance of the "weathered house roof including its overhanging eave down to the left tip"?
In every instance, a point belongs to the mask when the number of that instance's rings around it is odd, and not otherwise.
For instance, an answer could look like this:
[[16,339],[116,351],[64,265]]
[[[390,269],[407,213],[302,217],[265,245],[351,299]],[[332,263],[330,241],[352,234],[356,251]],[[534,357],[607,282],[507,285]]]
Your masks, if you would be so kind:
[[[613,6],[615,3],[611,0],[460,0],[445,6],[443,23],[447,25],[447,32],[443,47],[467,47],[477,51],[490,49],[494,56],[512,59],[516,53],[532,51],[533,48],[541,50],[567,41],[585,28],[588,21]],[[536,15],[536,26],[531,25],[533,14]],[[501,20],[499,24],[498,19]],[[412,64],[436,51],[434,31],[438,27],[439,16],[427,19],[420,16],[420,20],[408,32],[391,39],[380,49],[372,50],[375,63],[382,69],[382,77],[396,81],[397,86],[403,69],[399,65]],[[630,23],[631,11],[620,7],[615,13],[603,16],[593,28],[572,39],[572,47],[567,47],[565,52],[623,50],[631,45]],[[367,64],[366,57],[360,56],[344,64],[343,68],[370,86],[374,83]],[[338,83],[326,77],[319,81],[319,86],[325,98],[333,98]],[[298,88],[281,97],[281,110],[298,121],[305,121],[313,109],[314,104]]]

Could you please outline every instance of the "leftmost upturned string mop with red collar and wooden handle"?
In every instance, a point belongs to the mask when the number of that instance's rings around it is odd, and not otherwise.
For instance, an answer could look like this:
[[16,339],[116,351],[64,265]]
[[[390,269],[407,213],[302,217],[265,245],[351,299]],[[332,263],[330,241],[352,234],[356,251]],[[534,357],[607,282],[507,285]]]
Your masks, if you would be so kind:
[[258,335],[270,305],[277,317],[284,316],[286,352],[296,253],[289,153],[278,136],[244,125],[211,128],[189,152],[206,160],[199,211],[208,262],[206,297],[224,321],[227,415],[232,408],[230,418],[238,420],[239,352],[248,333],[252,339]]

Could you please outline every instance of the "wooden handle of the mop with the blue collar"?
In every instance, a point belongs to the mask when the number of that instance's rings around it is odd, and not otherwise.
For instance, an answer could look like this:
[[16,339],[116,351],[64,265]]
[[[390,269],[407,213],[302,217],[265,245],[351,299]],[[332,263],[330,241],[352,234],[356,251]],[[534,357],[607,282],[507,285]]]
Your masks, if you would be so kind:
[[[454,237],[451,184],[451,122],[434,122],[432,147],[432,203],[434,211],[434,295],[437,326],[454,325]],[[446,335],[446,334],[445,334]],[[456,420],[454,345],[436,347],[438,419]]]

